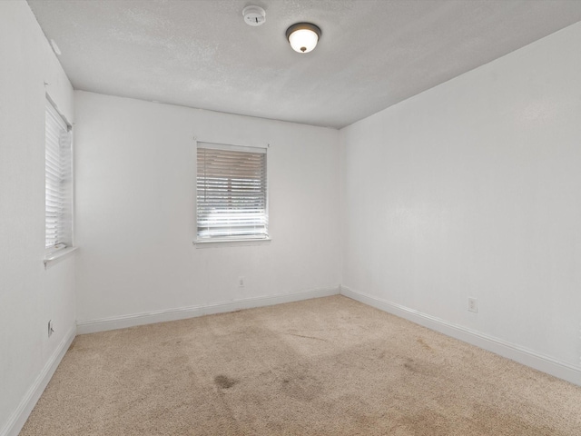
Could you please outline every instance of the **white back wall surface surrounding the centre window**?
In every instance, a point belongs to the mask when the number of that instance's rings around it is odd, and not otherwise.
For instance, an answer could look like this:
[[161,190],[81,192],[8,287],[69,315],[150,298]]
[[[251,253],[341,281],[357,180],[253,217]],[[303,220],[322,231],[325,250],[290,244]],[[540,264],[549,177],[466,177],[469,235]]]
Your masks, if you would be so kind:
[[[79,322],[338,287],[337,130],[82,91],[75,115]],[[270,144],[271,242],[192,244],[194,137]]]

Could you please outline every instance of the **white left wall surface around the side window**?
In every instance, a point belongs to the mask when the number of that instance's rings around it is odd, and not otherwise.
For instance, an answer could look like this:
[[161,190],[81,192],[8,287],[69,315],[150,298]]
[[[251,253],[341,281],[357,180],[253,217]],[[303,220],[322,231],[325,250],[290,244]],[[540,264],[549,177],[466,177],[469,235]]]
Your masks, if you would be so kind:
[[[0,2],[0,434],[75,328],[74,255],[44,269],[44,101],[73,121],[73,88],[24,1]],[[46,85],[45,85],[46,83]],[[54,322],[49,338],[48,321]],[[28,399],[28,400],[27,400]]]

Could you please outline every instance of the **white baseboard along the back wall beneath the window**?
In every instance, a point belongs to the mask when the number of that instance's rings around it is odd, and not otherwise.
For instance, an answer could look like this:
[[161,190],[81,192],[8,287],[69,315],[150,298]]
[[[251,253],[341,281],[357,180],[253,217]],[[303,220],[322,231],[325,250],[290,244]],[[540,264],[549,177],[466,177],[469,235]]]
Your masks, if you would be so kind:
[[[214,313],[234,312],[253,307],[271,306],[284,302],[299,302],[311,298],[328,297],[339,294],[339,286],[313,289],[310,291],[285,293],[265,297],[247,298],[233,302],[219,302],[208,305],[197,305],[168,309],[158,312],[135,313],[113,318],[77,322],[77,333],[106,332],[109,330],[124,329],[137,325],[153,324],[155,322],[177,321]],[[0,435],[1,436],[1,435]]]

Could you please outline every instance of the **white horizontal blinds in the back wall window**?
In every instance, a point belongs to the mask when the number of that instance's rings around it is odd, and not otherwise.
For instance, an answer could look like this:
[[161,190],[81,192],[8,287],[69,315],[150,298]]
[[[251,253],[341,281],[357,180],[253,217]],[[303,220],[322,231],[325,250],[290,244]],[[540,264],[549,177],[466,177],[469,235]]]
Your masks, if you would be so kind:
[[266,149],[198,144],[198,239],[268,236]]

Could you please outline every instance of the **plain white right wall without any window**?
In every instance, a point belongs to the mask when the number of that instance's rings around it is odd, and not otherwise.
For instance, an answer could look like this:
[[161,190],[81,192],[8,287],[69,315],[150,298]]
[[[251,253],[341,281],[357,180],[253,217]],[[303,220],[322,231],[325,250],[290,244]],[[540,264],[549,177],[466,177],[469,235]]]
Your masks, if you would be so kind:
[[580,41],[340,131],[343,285],[581,369]]

